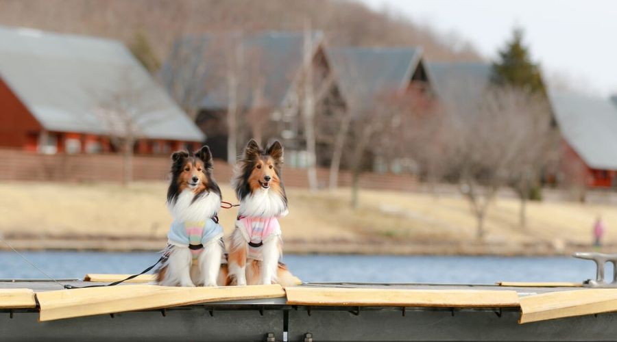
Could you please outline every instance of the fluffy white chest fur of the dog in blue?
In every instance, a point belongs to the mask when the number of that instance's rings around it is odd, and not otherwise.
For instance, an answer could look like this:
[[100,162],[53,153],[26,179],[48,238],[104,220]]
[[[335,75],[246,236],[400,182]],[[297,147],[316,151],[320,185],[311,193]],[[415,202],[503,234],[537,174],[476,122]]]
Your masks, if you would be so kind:
[[212,218],[221,207],[221,197],[213,192],[204,194],[193,202],[195,194],[189,189],[184,190],[176,198],[176,202],[167,203],[167,208],[174,220],[205,221]]

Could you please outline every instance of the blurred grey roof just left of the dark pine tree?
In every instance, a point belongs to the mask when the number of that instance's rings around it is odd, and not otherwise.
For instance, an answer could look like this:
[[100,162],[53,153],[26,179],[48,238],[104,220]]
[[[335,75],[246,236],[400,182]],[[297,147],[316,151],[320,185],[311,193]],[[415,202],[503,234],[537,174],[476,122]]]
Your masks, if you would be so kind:
[[427,69],[437,96],[452,105],[479,101],[492,73],[492,65],[485,62],[437,62],[429,63]]

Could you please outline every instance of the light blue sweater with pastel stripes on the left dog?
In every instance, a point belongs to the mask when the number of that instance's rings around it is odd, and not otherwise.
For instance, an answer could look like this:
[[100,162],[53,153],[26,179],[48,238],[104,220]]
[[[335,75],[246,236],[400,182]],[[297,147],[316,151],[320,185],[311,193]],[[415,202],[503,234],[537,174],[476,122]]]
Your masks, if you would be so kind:
[[204,248],[213,243],[218,243],[223,238],[223,227],[218,219],[212,218],[206,221],[174,221],[167,233],[168,244],[178,247],[188,247],[193,255],[193,264],[202,254]]

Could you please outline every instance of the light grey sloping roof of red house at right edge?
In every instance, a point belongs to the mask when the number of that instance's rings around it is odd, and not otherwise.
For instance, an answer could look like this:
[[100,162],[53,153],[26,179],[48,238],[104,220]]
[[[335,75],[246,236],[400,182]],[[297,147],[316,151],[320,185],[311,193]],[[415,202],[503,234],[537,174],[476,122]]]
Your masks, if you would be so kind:
[[553,91],[548,96],[561,134],[587,166],[617,170],[617,107],[609,98]]

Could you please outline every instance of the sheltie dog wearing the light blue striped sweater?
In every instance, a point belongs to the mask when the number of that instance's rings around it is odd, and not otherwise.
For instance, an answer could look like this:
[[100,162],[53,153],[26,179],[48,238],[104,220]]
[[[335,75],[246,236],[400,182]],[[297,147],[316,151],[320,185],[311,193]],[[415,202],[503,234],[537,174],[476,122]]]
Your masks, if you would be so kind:
[[221,189],[212,176],[208,146],[171,155],[167,208],[173,223],[163,251],[167,260],[157,282],[165,286],[216,286],[223,257],[223,228],[218,224]]

